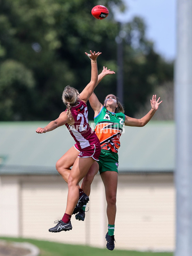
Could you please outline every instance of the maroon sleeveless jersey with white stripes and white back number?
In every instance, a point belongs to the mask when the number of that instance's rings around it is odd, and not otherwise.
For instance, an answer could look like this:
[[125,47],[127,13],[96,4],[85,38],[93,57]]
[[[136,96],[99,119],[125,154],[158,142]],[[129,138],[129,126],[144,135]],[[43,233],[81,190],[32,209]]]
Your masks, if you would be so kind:
[[[65,110],[67,111],[67,109]],[[81,150],[82,148],[89,147],[99,141],[97,135],[88,124],[88,110],[87,105],[79,100],[76,106],[71,108],[71,114],[75,119],[75,123],[65,124],[71,133],[71,136],[76,141],[76,148]]]

